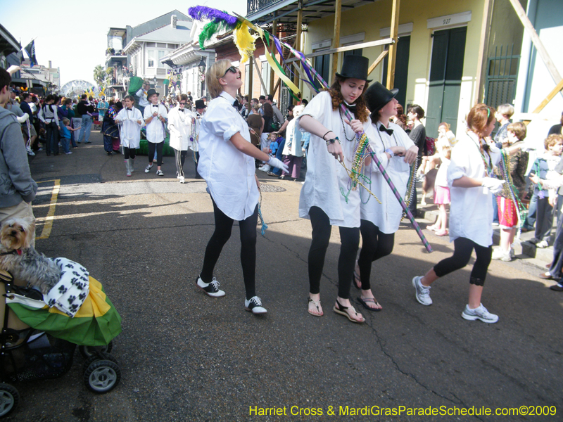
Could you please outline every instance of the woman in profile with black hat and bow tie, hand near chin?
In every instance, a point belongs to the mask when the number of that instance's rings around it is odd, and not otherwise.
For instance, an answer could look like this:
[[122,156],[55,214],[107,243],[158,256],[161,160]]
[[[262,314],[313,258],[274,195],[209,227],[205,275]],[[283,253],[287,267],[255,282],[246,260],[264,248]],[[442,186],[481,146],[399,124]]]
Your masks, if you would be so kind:
[[[418,148],[398,124],[390,122],[391,117],[397,114],[399,102],[395,96],[398,91],[398,89],[389,91],[379,82],[375,82],[367,89],[365,100],[367,108],[372,110],[372,114],[369,116],[375,132],[374,138],[370,139],[372,150],[384,151],[386,155],[385,170],[404,198],[407,195],[410,166],[417,159]],[[399,229],[403,207],[400,206],[376,165],[372,165],[370,175],[372,183],[369,188],[381,200],[381,204],[374,198],[369,198],[367,194],[365,195],[367,198],[363,198],[362,195],[360,205],[362,250],[355,276],[359,275],[361,280],[362,293],[358,302],[370,311],[380,311],[381,305],[375,300],[369,285],[372,262],[393,252],[395,232]],[[360,288],[358,284],[355,286]]]

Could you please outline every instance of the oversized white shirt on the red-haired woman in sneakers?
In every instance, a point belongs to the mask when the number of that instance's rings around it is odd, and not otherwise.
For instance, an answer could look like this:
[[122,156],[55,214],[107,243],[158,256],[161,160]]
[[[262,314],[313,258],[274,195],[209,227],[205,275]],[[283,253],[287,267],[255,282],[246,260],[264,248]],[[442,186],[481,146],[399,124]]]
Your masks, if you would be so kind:
[[[500,161],[500,151],[495,146],[490,146],[489,153],[494,167]],[[488,160],[486,153],[484,157]],[[462,237],[487,248],[493,244],[492,193],[483,186],[475,188],[452,186],[455,179],[463,176],[473,179],[489,176],[479,151],[479,137],[473,132],[459,136],[448,167],[451,198],[450,242]]]

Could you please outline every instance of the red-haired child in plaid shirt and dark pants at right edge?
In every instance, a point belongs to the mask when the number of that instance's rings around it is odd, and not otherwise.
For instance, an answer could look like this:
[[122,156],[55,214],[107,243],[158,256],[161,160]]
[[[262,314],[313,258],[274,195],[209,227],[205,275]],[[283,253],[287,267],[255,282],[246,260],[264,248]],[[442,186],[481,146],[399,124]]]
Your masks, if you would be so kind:
[[[559,162],[563,151],[563,135],[550,135],[545,139],[545,153],[533,162],[531,174],[537,174],[540,179],[557,179],[555,166]],[[538,248],[547,248],[549,245],[551,226],[553,225],[553,205],[557,195],[554,189],[545,189],[542,184],[533,188],[530,202],[536,202],[536,234],[530,241],[536,243]]]

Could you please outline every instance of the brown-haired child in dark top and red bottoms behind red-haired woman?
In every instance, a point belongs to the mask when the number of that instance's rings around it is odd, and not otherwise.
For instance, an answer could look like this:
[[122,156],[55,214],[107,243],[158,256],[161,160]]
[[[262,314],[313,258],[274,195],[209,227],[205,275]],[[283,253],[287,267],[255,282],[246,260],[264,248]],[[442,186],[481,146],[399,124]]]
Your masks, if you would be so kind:
[[[522,122],[510,123],[507,126],[507,138],[502,144],[503,148],[521,148],[526,138],[526,124]],[[508,185],[512,181],[514,196],[517,201],[526,195],[526,168],[528,167],[529,154],[519,151],[510,155],[507,161],[508,168],[502,169],[505,175],[510,174],[507,179]],[[512,180],[511,180],[512,179]],[[508,186],[507,186],[508,187]],[[518,227],[519,207],[514,203],[512,194],[507,188],[496,197],[498,205],[498,222],[500,225],[500,245],[493,251],[493,260],[512,261],[512,243]]]

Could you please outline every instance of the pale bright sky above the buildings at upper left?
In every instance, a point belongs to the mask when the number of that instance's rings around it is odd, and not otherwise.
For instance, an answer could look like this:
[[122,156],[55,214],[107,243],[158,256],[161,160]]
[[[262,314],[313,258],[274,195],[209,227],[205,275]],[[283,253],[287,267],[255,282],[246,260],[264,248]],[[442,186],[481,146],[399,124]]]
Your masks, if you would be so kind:
[[[94,67],[106,61],[110,27],[132,27],[173,10],[188,14],[191,6],[220,8],[246,15],[244,0],[168,0],[163,2],[45,1],[2,2],[0,23],[24,47],[35,38],[40,65],[61,70],[61,86],[74,79],[94,84]],[[162,6],[159,6],[159,5]]]

